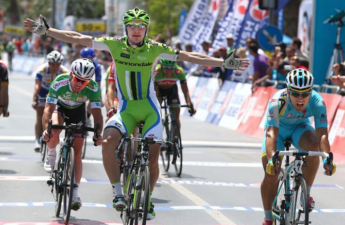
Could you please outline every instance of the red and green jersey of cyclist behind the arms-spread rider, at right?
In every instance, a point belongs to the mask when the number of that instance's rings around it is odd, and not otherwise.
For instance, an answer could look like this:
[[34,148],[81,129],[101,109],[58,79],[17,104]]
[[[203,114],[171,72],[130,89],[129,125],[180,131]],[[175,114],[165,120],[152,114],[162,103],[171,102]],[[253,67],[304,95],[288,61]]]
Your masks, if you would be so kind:
[[186,73],[181,66],[176,65],[168,74],[163,73],[162,65],[156,66],[156,77],[154,83],[163,88],[169,88],[176,84],[177,81],[186,80]]

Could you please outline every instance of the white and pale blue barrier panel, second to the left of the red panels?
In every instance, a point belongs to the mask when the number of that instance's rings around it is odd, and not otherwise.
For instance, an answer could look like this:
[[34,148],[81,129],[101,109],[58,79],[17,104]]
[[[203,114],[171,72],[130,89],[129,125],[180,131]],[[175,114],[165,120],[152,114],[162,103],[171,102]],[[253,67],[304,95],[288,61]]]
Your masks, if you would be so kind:
[[206,122],[218,124],[221,116],[223,115],[232,93],[236,87],[235,82],[232,81],[224,81],[223,85],[221,86],[218,95],[216,97],[215,102],[213,103],[210,113],[206,118]]

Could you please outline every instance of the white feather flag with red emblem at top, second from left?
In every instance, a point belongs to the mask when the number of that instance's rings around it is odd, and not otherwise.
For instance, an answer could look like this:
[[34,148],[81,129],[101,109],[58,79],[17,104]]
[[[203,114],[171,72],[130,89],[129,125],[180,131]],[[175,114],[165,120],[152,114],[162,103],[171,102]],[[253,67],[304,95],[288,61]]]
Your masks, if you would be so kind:
[[[221,0],[212,0],[209,6],[209,10],[206,13],[204,20],[197,34],[194,36],[192,44],[196,52],[201,52],[201,43],[203,41],[210,41],[214,24],[216,23]],[[212,53],[212,52],[209,52]]]

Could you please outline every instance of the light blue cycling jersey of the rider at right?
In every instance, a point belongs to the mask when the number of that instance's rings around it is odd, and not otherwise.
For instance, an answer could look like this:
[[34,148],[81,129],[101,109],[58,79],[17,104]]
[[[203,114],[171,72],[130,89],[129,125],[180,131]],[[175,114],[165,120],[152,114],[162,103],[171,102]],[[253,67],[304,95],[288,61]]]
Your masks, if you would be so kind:
[[267,126],[290,127],[309,121],[309,117],[315,119],[315,127],[327,127],[326,105],[322,97],[312,91],[309,102],[303,111],[297,111],[287,95],[287,88],[274,93],[269,102],[265,128]]

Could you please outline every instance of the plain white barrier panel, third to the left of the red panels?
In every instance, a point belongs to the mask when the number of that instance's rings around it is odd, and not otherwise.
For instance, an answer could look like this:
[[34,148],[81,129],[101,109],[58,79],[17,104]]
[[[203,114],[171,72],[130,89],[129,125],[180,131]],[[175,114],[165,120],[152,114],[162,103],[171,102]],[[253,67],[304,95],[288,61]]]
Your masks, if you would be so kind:
[[210,78],[205,85],[203,95],[197,107],[195,118],[205,121],[209,115],[211,106],[219,92],[219,81],[217,78]]

